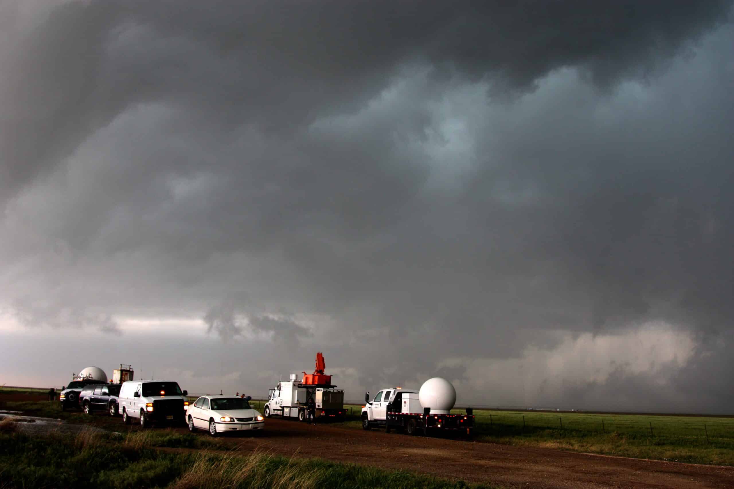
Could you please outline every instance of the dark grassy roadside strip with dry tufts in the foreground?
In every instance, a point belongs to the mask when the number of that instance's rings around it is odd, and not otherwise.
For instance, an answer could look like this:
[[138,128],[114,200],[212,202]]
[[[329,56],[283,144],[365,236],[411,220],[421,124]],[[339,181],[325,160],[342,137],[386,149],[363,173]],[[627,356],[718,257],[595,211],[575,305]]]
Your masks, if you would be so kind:
[[320,459],[156,449],[150,433],[29,437],[0,426],[3,488],[490,488]]

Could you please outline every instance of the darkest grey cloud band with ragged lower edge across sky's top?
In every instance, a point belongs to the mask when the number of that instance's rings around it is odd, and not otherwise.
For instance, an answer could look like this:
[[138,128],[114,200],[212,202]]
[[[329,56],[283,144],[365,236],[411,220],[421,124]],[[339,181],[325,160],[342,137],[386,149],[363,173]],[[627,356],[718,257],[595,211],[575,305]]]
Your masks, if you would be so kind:
[[[599,84],[644,76],[721,23],[730,1],[71,1],[7,16],[1,60],[4,193],[136,103],[175,101],[209,123],[289,130],[355,110],[404,62],[528,89],[558,67]],[[20,6],[4,5],[21,20]],[[17,10],[18,12],[13,12]],[[26,13],[26,16],[29,14]],[[20,22],[18,22],[20,23]],[[22,29],[25,26],[26,29]],[[38,144],[43,141],[43,144]]]

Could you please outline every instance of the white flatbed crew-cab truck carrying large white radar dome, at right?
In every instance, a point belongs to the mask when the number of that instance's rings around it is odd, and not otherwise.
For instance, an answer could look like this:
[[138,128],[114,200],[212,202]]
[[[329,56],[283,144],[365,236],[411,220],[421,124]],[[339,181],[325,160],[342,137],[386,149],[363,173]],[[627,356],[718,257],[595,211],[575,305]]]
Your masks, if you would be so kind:
[[365,393],[362,408],[362,427],[385,427],[385,432],[398,430],[414,434],[455,432],[471,437],[474,430],[474,413],[451,413],[457,394],[454,386],[446,379],[434,377],[421,386],[420,391],[391,387],[377,392],[370,400]]

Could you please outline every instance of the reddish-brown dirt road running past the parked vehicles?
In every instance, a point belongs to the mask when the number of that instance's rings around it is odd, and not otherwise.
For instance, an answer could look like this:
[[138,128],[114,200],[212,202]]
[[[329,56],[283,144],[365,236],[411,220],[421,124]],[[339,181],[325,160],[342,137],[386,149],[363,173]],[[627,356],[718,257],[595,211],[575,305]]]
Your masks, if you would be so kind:
[[247,452],[257,449],[288,457],[323,457],[509,487],[734,488],[734,467],[366,432],[283,419],[269,419],[266,431],[258,437],[226,436],[219,443]]

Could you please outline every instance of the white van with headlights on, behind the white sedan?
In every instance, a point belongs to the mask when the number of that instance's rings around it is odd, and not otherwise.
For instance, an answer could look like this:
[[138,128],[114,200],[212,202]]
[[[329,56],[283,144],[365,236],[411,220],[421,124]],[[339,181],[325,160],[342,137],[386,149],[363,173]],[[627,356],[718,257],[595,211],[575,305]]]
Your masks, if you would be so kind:
[[154,422],[180,424],[189,405],[188,394],[172,380],[128,380],[120,389],[117,412],[125,424],[133,419],[141,427]]

